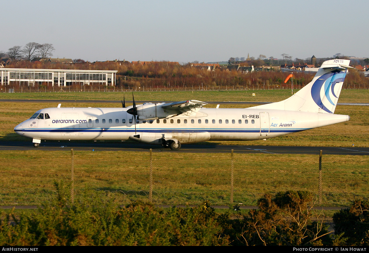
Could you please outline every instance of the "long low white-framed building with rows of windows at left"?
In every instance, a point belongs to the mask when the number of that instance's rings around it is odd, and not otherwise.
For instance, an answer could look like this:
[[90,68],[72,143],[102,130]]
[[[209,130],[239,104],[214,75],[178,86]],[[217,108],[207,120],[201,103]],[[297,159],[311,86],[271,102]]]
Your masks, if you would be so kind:
[[9,84],[105,84],[115,86],[117,70],[8,69],[0,68],[1,85]]

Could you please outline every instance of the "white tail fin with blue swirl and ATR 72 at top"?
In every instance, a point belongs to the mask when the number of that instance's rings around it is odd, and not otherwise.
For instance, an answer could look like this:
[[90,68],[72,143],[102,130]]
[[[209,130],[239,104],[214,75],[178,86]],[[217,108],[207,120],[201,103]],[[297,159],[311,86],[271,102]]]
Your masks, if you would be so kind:
[[334,113],[350,60],[323,62],[313,80],[286,100],[252,108]]

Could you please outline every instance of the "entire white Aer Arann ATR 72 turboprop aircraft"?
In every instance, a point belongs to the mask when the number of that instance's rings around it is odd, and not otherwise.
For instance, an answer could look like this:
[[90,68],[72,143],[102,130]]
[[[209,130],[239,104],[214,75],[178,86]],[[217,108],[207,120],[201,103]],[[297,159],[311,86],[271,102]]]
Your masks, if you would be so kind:
[[203,141],[267,139],[348,121],[333,114],[349,60],[325,61],[314,79],[286,100],[250,108],[204,108],[187,100],[123,108],[45,108],[14,128],[41,140],[120,140],[169,146]]

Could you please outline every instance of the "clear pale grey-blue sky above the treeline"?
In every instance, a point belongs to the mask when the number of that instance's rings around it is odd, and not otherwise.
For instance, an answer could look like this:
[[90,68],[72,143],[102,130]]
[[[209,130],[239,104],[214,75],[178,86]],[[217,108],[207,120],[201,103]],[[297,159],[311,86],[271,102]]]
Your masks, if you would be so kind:
[[4,52],[37,42],[53,44],[54,58],[90,62],[369,57],[362,0],[11,0],[1,9]]

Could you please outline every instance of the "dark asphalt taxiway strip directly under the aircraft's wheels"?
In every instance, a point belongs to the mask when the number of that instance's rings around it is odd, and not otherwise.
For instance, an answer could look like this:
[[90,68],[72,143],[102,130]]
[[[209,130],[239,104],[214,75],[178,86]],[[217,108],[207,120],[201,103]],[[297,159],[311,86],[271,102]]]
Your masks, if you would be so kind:
[[369,148],[361,147],[300,147],[300,146],[253,146],[253,145],[218,145],[216,143],[196,143],[182,145],[180,150],[171,150],[159,145],[148,145],[135,142],[108,141],[43,141],[38,148],[34,148],[32,141],[0,141],[0,150],[86,150],[86,151],[135,151],[148,152],[178,152],[178,153],[234,153],[243,154],[310,154],[319,155],[323,150],[325,155],[369,155]]

